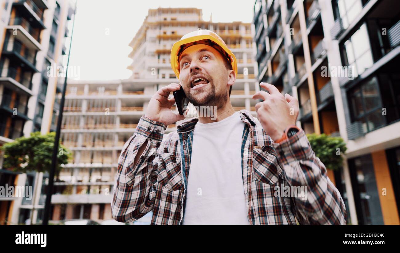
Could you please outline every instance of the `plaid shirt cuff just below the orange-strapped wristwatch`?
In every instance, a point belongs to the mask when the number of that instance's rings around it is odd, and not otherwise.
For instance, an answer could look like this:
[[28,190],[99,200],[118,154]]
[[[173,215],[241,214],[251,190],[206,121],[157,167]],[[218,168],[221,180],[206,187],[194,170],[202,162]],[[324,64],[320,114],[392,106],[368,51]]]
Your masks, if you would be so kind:
[[278,159],[285,165],[294,161],[308,160],[313,154],[306,133],[302,129],[289,139],[273,145]]

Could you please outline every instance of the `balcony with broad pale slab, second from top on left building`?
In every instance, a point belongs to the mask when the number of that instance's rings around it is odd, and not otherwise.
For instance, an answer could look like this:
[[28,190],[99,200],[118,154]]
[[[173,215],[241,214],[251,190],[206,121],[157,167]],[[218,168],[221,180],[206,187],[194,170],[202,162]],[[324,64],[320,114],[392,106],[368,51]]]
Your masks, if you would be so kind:
[[[23,29],[21,28],[21,26]],[[7,29],[10,29],[12,31],[17,30],[15,32],[14,38],[20,40],[28,48],[32,50],[41,50],[40,30],[32,27],[26,19],[22,17],[10,18]]]

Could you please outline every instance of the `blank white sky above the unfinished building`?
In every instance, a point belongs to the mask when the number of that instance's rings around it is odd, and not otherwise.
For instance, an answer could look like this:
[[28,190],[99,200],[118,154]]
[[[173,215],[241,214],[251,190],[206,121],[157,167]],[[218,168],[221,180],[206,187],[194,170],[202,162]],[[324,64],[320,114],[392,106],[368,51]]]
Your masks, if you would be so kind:
[[132,48],[128,44],[148,9],[195,7],[202,9],[206,21],[212,13],[213,22],[250,23],[253,6],[254,0],[78,0],[70,66],[80,69],[80,80],[129,78],[132,72],[126,67],[132,62],[128,58]]

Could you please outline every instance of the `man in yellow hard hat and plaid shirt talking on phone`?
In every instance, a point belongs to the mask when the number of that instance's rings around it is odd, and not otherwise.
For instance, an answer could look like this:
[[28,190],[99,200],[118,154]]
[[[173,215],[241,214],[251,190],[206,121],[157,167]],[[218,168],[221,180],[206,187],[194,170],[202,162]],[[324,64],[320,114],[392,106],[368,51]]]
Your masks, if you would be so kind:
[[264,100],[256,104],[258,119],[235,112],[230,91],[236,57],[209,30],[176,42],[171,66],[194,106],[216,108],[215,120],[200,115],[164,136],[169,124],[184,119],[170,109],[174,97],[168,98],[181,87],[158,90],[122,149],[114,219],[129,222],[152,211],[153,225],[346,224],[339,191],[295,125],[296,98],[261,83],[269,93],[253,96]]

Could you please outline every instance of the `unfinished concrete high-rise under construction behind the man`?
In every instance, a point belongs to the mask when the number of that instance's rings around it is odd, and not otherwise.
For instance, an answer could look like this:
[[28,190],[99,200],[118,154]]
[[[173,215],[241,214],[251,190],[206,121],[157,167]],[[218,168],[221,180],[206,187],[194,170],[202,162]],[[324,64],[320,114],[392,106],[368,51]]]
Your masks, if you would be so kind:
[[[112,219],[112,187],[122,146],[133,135],[152,95],[162,86],[178,82],[170,66],[170,52],[184,34],[200,28],[213,30],[224,39],[238,60],[232,104],[235,110],[246,108],[256,116],[256,101],[251,97],[259,86],[251,27],[250,23],[204,21],[197,8],[149,10],[129,43],[130,78],[68,81],[61,138],[74,156],[55,182],[52,219]],[[168,126],[166,132],[170,131],[176,131],[176,124]]]

